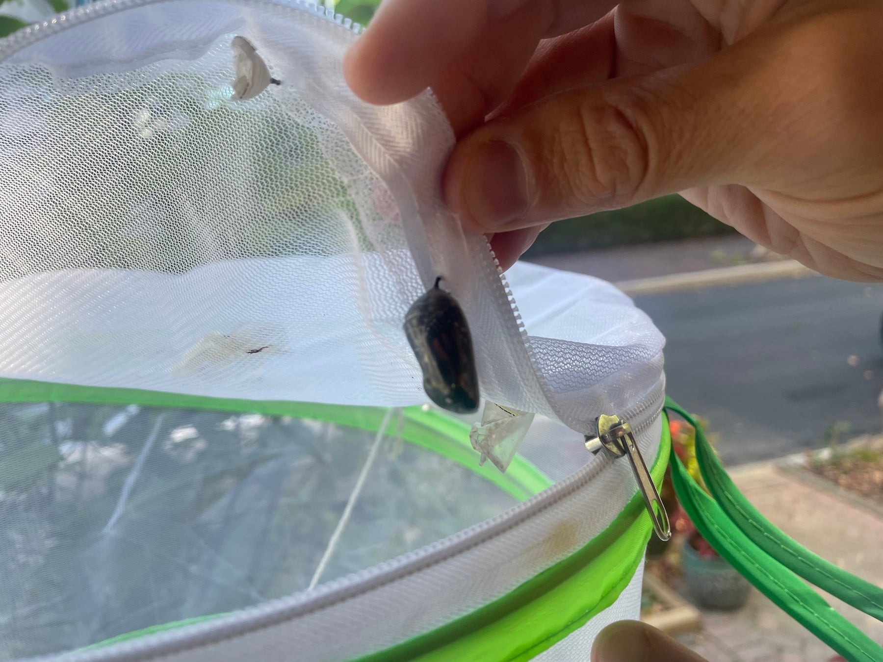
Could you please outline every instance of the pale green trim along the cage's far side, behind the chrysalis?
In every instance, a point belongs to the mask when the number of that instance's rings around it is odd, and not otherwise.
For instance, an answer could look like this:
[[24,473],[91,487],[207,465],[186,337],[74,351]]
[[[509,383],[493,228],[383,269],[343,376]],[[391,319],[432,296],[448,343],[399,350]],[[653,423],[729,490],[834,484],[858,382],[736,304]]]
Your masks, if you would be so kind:
[[[79,402],[83,404],[138,404],[169,409],[230,411],[237,414],[290,416],[377,432],[386,414],[382,407],[353,407],[341,404],[245,400],[148,391],[139,388],[84,387],[47,381],[0,379],[0,402]],[[506,473],[492,464],[479,466],[478,452],[469,442],[469,425],[437,410],[404,408],[404,440],[433,451],[523,501],[545,490],[552,481],[521,455],[516,455]]]

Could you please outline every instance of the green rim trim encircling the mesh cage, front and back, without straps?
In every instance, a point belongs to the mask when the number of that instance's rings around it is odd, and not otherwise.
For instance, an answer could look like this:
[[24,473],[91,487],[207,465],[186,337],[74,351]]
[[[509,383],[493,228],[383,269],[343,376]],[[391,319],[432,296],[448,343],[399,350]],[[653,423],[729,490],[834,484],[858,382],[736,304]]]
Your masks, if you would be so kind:
[[[30,380],[0,379],[0,402],[79,402],[102,405],[219,410],[267,416],[310,418],[376,432],[385,408],[351,407],[312,402],[253,401],[181,395],[130,388],[80,387]],[[664,414],[660,448],[651,469],[661,485],[671,447]],[[479,466],[469,442],[469,425],[438,410],[404,408],[403,439],[460,464],[517,500],[527,500],[552,485],[532,463],[516,455],[506,473],[490,464]],[[399,662],[451,659],[478,662],[527,660],[547,650],[593,616],[611,606],[634,576],[652,533],[640,494],[635,493],[598,536],[555,565],[533,576],[494,602],[423,635],[353,662]],[[80,651],[102,648],[212,621],[225,613],[173,621],[94,643]]]

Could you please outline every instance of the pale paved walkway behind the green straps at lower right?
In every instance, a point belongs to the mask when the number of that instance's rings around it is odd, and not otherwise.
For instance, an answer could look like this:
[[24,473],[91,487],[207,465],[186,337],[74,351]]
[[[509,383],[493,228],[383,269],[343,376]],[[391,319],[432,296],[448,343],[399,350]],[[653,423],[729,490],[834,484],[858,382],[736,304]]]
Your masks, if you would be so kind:
[[[883,586],[883,516],[843,500],[799,471],[765,463],[733,470],[739,489],[776,526],[841,568]],[[883,644],[883,623],[822,592],[831,606]],[[828,662],[836,653],[758,591],[735,613],[703,612],[698,634],[678,637],[709,662]]]

